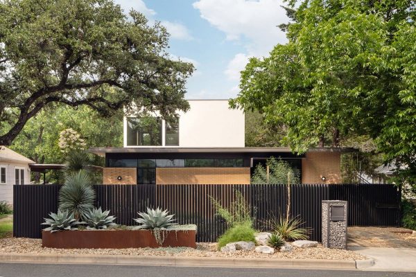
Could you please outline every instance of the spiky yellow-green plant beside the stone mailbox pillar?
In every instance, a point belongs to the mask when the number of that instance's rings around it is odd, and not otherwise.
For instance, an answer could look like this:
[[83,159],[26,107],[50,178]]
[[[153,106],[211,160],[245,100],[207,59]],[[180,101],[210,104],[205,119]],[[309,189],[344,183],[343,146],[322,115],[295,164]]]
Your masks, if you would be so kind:
[[273,233],[279,235],[286,242],[294,240],[307,240],[311,231],[306,228],[300,228],[302,221],[299,217],[284,218],[272,217],[269,224],[272,226]]

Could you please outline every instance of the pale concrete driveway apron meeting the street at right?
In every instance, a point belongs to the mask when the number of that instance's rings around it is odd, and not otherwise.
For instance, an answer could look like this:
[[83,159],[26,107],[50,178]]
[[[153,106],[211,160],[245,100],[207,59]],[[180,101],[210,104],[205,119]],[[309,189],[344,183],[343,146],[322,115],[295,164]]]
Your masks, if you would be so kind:
[[374,259],[374,265],[363,270],[416,272],[416,249],[383,247],[348,247],[348,249]]

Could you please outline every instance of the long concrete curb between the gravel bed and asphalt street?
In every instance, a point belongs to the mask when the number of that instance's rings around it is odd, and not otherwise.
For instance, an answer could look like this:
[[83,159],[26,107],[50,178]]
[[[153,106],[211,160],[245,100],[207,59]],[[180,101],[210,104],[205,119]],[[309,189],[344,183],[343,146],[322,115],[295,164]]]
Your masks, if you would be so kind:
[[26,254],[3,253],[0,262],[150,265],[173,267],[254,267],[297,269],[360,269],[371,267],[374,260],[297,260],[261,258],[185,258],[160,256]]

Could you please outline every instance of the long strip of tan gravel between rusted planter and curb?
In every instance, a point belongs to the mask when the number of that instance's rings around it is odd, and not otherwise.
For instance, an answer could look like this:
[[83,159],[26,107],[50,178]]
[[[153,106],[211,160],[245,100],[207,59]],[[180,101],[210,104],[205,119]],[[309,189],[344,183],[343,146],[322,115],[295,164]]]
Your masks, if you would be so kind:
[[316,248],[300,249],[292,252],[276,252],[272,255],[254,251],[223,253],[217,251],[216,243],[198,243],[197,249],[177,248],[138,248],[138,249],[53,249],[42,248],[42,240],[30,238],[4,238],[0,240],[0,253],[61,253],[61,254],[100,254],[128,256],[180,256],[180,257],[226,257],[226,258],[288,258],[322,260],[363,260],[364,256],[347,250]]

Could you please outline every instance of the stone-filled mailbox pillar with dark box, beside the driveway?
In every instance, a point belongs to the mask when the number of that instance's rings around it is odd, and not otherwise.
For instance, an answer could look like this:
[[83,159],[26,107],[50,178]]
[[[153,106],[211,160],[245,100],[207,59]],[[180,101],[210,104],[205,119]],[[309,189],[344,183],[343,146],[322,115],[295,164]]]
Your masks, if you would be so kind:
[[322,201],[322,245],[331,249],[347,248],[346,201]]

